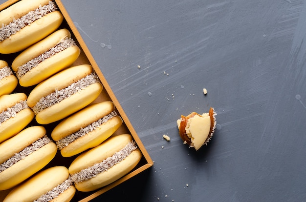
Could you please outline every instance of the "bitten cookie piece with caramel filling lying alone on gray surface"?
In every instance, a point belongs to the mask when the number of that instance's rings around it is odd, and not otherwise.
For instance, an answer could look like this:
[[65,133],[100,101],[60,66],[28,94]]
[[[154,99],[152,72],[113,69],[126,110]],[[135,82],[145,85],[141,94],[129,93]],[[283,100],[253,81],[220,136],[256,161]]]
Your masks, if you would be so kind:
[[208,113],[202,115],[192,112],[187,117],[181,115],[176,121],[179,136],[190,147],[198,150],[202,145],[207,145],[213,137],[216,128],[216,112],[210,108]]

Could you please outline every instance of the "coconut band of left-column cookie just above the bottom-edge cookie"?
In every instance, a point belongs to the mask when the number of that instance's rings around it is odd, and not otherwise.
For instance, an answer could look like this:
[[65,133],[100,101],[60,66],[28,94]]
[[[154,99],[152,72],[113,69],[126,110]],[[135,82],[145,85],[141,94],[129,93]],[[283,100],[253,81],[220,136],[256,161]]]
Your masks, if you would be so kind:
[[12,166],[14,163],[19,162],[20,160],[24,159],[26,156],[42,148],[44,145],[46,145],[49,142],[51,142],[51,140],[46,135],[44,135],[44,137],[38,139],[37,141],[34,141],[31,145],[25,147],[19,153],[16,153],[14,156],[9,158],[6,162],[1,163],[0,173],[4,171],[5,169],[9,168],[10,166]]

